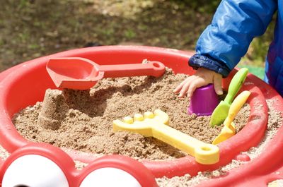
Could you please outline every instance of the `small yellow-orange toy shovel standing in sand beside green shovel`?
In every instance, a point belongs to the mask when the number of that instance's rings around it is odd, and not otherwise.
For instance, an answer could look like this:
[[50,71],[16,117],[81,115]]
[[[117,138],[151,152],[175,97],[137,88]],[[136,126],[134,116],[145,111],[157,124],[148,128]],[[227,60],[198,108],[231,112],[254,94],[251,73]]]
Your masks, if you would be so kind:
[[228,116],[224,121],[224,127],[221,129],[220,134],[217,135],[217,137],[213,140],[212,142],[213,145],[219,144],[236,134],[235,124],[232,121],[233,119],[235,119],[236,115],[241,110],[243,104],[245,104],[249,96],[250,96],[249,91],[243,91],[232,102]]

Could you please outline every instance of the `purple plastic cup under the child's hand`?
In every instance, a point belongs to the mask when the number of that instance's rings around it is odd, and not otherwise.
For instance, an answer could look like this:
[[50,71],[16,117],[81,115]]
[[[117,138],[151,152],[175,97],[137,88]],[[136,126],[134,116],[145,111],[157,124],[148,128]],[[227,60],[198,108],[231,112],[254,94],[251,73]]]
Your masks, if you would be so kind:
[[214,90],[214,85],[209,84],[197,88],[190,99],[190,106],[187,107],[187,114],[197,116],[210,116],[219,104],[219,99]]

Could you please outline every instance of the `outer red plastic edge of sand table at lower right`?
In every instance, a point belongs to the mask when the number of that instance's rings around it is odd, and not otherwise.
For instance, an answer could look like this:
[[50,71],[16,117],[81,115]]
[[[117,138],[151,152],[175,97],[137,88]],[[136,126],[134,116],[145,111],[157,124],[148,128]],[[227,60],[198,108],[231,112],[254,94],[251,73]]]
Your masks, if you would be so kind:
[[[261,80],[255,76],[249,76],[253,83]],[[279,112],[283,123],[283,98],[270,85],[258,84],[264,93],[265,99],[270,100],[273,110]],[[272,140],[267,143],[265,150],[255,159],[236,169],[232,169],[226,176],[210,179],[198,185],[209,187],[226,186],[267,186],[270,181],[283,179],[283,126],[281,126]]]

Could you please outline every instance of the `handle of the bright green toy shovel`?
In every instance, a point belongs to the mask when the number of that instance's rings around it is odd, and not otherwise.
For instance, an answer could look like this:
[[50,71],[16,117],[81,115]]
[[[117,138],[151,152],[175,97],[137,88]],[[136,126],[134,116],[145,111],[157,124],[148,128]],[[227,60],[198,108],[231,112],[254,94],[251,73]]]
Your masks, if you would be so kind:
[[233,76],[228,88],[228,93],[224,99],[224,102],[228,102],[229,104],[233,102],[233,99],[238,93],[238,90],[240,90],[241,86],[243,85],[243,82],[245,82],[247,75],[248,75],[248,68],[241,68],[235,74],[235,76]]

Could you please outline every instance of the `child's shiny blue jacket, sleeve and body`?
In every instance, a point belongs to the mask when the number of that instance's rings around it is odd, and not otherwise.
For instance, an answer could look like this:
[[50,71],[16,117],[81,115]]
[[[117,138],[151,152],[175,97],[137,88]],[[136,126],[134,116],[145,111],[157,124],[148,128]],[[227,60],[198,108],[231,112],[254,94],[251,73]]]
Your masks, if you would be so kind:
[[253,37],[262,35],[277,11],[275,36],[268,50],[265,81],[283,96],[283,0],[224,0],[197,41],[193,68],[204,67],[224,77],[238,64]]

